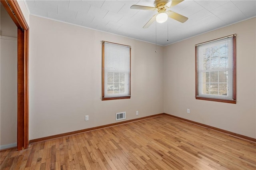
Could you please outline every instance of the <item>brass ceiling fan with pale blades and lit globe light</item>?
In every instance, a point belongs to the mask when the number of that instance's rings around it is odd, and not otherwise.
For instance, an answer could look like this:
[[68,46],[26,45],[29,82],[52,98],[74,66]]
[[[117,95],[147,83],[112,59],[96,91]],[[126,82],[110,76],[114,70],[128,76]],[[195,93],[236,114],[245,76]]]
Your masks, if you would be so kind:
[[158,13],[155,14],[144,26],[143,28],[148,28],[155,20],[158,23],[166,22],[168,17],[177,20],[179,22],[186,22],[188,18],[186,16],[180,15],[173,11],[166,11],[168,8],[172,8],[182,2],[184,0],[155,0],[154,6],[141,6],[141,5],[132,5],[131,9],[137,9],[137,10],[157,10]]

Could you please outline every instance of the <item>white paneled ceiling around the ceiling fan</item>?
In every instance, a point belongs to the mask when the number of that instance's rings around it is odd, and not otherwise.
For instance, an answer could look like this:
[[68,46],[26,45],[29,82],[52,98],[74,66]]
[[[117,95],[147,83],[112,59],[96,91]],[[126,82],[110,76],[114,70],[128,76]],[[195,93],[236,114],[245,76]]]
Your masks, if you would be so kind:
[[[256,16],[256,0],[184,0],[169,8],[188,17],[184,23],[168,18],[142,28],[157,11],[154,0],[26,0],[30,14],[138,40],[168,45]],[[168,40],[168,41],[167,41]]]

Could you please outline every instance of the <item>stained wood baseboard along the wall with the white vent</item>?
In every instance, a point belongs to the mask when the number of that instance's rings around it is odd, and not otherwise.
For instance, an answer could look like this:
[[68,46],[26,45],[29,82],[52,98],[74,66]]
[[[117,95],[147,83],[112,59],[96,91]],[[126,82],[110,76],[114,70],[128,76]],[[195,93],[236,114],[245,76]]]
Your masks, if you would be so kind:
[[112,126],[122,125],[122,124],[125,124],[125,123],[134,122],[134,121],[139,121],[139,120],[142,120],[142,119],[148,119],[150,117],[157,117],[157,116],[160,116],[160,115],[164,115],[164,113],[159,113],[159,114],[156,114],[156,115],[150,115],[150,116],[146,116],[146,117],[140,117],[140,118],[131,119],[131,120],[128,120],[128,121],[111,123],[111,124],[108,124],[108,125],[102,125],[102,126],[98,126],[98,127],[92,127],[92,128],[86,128],[86,129],[76,130],[76,131],[72,131],[72,132],[66,132],[66,133],[62,133],[62,134],[56,134],[56,135],[52,135],[52,136],[46,136],[46,137],[43,137],[43,138],[32,139],[32,140],[29,141],[29,143],[52,140],[52,139],[61,138],[61,137],[64,137],[64,136],[70,136],[70,135],[73,135],[73,134],[88,132],[88,131],[91,131],[91,130],[97,130],[97,129],[100,129],[100,128],[112,127]]

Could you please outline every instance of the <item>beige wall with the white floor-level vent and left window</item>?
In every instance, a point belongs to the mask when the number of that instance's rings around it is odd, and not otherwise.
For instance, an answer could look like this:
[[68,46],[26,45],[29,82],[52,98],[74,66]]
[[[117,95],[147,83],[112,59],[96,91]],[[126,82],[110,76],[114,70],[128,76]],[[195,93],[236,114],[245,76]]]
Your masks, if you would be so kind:
[[[102,40],[132,46],[131,99],[100,99]],[[163,48],[30,16],[29,138],[163,113]]]

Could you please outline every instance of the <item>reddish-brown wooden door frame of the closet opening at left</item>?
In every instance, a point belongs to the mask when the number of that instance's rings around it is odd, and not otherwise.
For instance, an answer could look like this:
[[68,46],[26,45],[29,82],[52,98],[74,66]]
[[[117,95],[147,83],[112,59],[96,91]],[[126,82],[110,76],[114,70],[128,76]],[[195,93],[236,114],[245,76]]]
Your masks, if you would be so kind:
[[18,28],[17,150],[28,148],[28,36],[29,27],[16,0],[1,0]]

